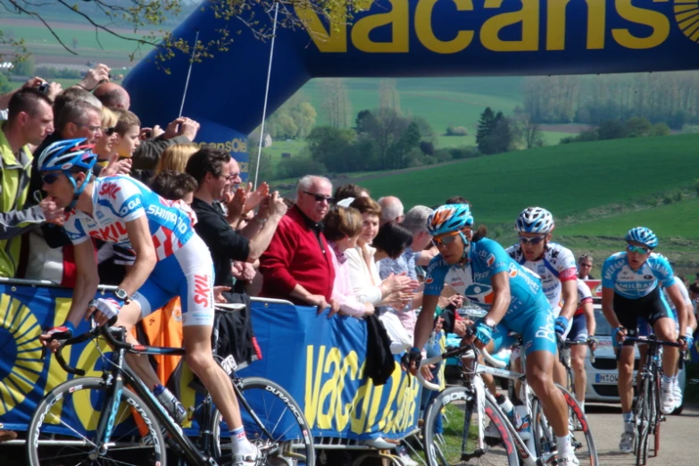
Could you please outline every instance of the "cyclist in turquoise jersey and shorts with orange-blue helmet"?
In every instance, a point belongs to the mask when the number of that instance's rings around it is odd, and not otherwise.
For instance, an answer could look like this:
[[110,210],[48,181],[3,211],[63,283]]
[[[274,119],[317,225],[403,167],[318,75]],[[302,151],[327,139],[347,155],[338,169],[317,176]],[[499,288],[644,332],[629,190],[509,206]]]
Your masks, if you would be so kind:
[[495,335],[507,330],[520,333],[527,354],[527,380],[541,400],[546,418],[557,437],[558,464],[578,464],[568,430],[568,410],[561,392],[553,385],[556,337],[553,314],[542,291],[541,280],[488,239],[481,227],[474,234],[468,204],[446,204],[428,219],[429,233],[439,254],[429,262],[422,310],[415,327],[414,346],[404,365],[414,374],[422,348],[432,330],[437,301],[445,285],[487,310],[464,343],[485,347]]

